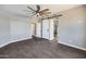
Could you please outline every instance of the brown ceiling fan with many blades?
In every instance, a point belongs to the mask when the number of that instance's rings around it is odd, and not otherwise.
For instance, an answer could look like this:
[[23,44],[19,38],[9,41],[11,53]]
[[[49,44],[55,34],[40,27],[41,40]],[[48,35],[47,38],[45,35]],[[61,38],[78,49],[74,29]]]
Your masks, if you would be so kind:
[[[45,10],[41,10],[40,5],[36,5],[36,10],[30,8],[29,5],[27,5],[27,9],[29,9],[32,11],[32,16],[36,15],[36,16],[47,16],[49,15],[51,12],[49,12],[49,9],[45,9]],[[28,14],[29,14],[29,11],[27,11]]]

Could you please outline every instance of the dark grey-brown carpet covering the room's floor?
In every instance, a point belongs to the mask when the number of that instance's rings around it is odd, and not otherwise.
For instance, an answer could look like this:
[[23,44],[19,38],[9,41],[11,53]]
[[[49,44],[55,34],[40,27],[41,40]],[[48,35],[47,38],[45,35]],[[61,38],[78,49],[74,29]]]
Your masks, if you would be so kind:
[[46,39],[28,39],[0,48],[4,59],[82,59],[86,52]]

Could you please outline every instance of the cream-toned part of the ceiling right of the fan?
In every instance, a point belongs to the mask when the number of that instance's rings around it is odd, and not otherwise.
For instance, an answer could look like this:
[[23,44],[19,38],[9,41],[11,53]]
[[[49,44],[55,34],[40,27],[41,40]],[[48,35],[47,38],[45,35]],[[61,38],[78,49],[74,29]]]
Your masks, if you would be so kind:
[[78,7],[78,4],[45,4],[41,5],[42,9],[50,9],[52,13],[65,11],[72,8]]

